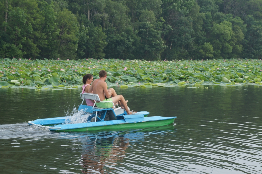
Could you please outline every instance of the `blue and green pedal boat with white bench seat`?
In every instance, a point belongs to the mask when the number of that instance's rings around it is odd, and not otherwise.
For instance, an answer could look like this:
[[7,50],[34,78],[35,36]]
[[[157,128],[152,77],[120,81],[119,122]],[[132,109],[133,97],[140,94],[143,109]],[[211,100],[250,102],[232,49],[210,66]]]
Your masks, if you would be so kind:
[[[83,105],[85,99],[102,102],[97,94],[80,93],[83,99],[78,111],[83,111],[83,115],[89,114],[84,123],[73,123],[72,117],[56,117],[48,119],[37,119],[29,121],[29,125],[48,128],[56,132],[78,132],[78,131],[97,131],[97,130],[116,130],[128,128],[148,128],[169,125],[174,122],[176,117],[147,117],[149,112],[140,111],[135,114],[127,115],[121,107],[116,108],[97,108],[94,106]],[[113,103],[113,102],[112,102]],[[113,103],[114,105],[114,103]]]

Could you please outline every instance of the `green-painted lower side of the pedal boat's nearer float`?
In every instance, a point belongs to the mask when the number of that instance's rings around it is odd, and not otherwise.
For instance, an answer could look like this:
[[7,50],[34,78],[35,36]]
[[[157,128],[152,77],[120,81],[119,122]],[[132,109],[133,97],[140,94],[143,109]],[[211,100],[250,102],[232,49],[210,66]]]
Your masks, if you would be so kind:
[[83,132],[83,131],[101,131],[101,130],[119,130],[119,129],[128,129],[128,128],[145,128],[145,127],[159,127],[169,125],[174,122],[174,117],[171,119],[165,120],[155,120],[155,121],[143,121],[135,123],[121,123],[113,125],[102,125],[102,126],[92,126],[92,127],[82,127],[82,128],[73,128],[73,129],[64,129],[64,130],[50,130],[56,132]]

